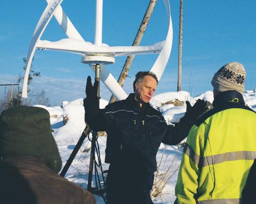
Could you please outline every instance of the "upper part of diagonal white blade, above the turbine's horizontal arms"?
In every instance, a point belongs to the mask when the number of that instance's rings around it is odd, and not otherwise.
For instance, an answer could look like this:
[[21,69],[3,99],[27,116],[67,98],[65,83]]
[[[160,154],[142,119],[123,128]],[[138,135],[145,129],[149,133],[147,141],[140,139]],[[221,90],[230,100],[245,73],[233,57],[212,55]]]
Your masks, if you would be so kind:
[[[51,3],[52,0],[46,0],[47,3]],[[62,30],[68,36],[80,41],[85,41],[84,38],[79,34],[75,26],[72,24],[66,13],[63,11],[61,5],[56,9],[54,16],[58,21],[58,24],[62,27]]]

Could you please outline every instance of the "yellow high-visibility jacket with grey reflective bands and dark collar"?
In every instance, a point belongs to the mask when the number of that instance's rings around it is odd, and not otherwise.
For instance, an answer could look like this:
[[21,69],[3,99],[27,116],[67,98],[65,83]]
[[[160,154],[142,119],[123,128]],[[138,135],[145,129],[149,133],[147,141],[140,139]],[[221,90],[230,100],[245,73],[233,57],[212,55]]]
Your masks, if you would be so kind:
[[178,203],[241,203],[256,158],[256,114],[237,91],[219,93],[213,106],[189,132],[175,189]]

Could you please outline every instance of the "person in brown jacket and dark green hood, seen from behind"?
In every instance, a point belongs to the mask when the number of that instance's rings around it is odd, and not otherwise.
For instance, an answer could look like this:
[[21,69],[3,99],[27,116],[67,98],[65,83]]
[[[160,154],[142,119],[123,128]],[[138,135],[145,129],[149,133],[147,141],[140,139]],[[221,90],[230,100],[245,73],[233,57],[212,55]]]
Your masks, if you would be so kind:
[[60,175],[62,161],[50,114],[18,106],[0,115],[0,203],[96,204],[94,196]]

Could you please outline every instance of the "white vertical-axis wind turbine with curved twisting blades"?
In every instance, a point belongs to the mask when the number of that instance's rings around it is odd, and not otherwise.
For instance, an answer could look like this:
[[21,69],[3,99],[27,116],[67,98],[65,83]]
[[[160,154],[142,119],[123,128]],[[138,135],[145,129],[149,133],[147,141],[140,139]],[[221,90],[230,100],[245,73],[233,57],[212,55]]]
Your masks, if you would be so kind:
[[[159,53],[159,56],[150,71],[154,72],[160,80],[170,57],[172,48],[172,21],[169,0],[163,0],[168,18],[166,39],[151,46],[108,46],[107,44],[102,43],[103,0],[96,0],[95,43],[86,42],[77,29],[75,29],[74,25],[61,7],[63,0],[46,1],[47,7],[37,23],[29,46],[22,90],[23,99],[28,98],[28,77],[32,57],[34,56],[36,49],[48,49],[79,54],[81,56],[81,62],[89,64],[91,68],[95,68],[96,64],[99,65],[98,67],[101,67],[100,80],[104,82],[106,87],[112,92],[117,100],[126,98],[127,93],[124,92],[117,80],[105,66],[115,63],[115,57]],[[56,42],[41,40],[41,36],[53,15],[68,38],[64,38]]]

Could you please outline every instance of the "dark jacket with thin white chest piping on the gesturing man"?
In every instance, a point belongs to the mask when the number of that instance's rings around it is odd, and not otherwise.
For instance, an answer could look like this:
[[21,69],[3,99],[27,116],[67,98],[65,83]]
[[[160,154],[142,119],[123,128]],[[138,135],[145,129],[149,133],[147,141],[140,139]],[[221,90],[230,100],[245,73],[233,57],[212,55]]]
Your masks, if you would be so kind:
[[[139,106],[131,93],[126,100],[117,101],[99,109],[99,101],[84,100],[85,122],[92,130],[106,131],[105,162],[118,165],[128,171],[156,170],[156,153],[161,142],[177,145],[192,126],[188,117],[173,125],[167,125],[164,117],[149,103]],[[132,164],[132,165],[131,165]]]

